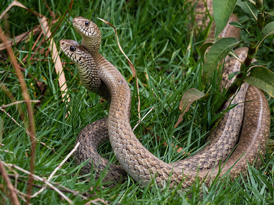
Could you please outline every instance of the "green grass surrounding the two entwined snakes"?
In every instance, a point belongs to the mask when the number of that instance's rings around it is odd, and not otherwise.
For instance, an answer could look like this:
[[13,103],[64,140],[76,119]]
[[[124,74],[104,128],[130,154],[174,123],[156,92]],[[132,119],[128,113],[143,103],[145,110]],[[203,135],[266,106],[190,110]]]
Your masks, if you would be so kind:
[[[218,109],[219,87],[217,83],[217,72],[213,73],[211,82],[216,82],[202,88],[201,83],[201,61],[198,60],[197,46],[201,46],[206,38],[202,32],[191,33],[191,25],[194,25],[193,8],[187,4],[183,8],[184,1],[74,1],[70,17],[68,14],[61,22],[59,28],[53,35],[54,42],[59,45],[60,39],[74,39],[81,41],[72,27],[72,18],[81,15],[93,20],[100,28],[102,33],[101,54],[107,58],[118,70],[129,80],[132,77],[130,67],[125,57],[120,52],[114,30],[101,22],[97,17],[111,22],[117,27],[120,44],[130,58],[139,77],[139,91],[141,99],[141,117],[154,107],[155,109],[145,118],[142,125],[135,130],[135,135],[140,138],[140,142],[156,157],[165,162],[174,162],[185,158],[187,155],[175,152],[171,146],[164,146],[164,141],[171,145],[181,146],[187,153],[195,153],[204,145],[206,133],[210,129],[210,121]],[[7,7],[9,2],[1,2],[1,12]],[[52,16],[43,1],[21,1],[26,7],[40,12],[51,22]],[[56,28],[65,14],[70,2],[58,3],[50,1],[48,5],[58,19],[51,27],[51,32]],[[268,1],[269,7],[273,8],[273,2]],[[239,8],[235,8],[239,14],[240,22],[245,26],[251,26]],[[24,16],[22,18],[22,16]],[[8,12],[7,21],[0,20],[1,27],[8,28],[10,36],[19,35],[32,29],[39,24],[37,17],[26,10],[13,7]],[[9,25],[7,27],[6,25]],[[7,33],[7,31],[6,31]],[[53,170],[60,164],[65,156],[74,147],[76,137],[80,130],[90,122],[107,116],[108,104],[101,103],[99,97],[86,89],[79,83],[77,69],[70,61],[61,54],[62,62],[66,62],[64,73],[68,85],[68,95],[70,102],[63,102],[60,87],[58,85],[58,75],[54,71],[54,64],[50,54],[48,43],[43,43],[34,58],[30,48],[33,46],[38,35],[33,36],[28,41],[23,41],[13,46],[18,60],[22,60],[28,55],[28,61],[21,65],[26,68],[27,73],[36,77],[47,85],[44,95],[40,94],[39,89],[34,86],[35,80],[25,77],[30,98],[41,100],[40,104],[33,104],[33,115],[35,120],[36,137],[54,148],[57,153],[37,143],[35,156],[35,174],[47,178]],[[256,55],[258,60],[264,60],[273,70],[273,36],[265,40],[265,45]],[[41,39],[37,45],[40,44]],[[34,50],[37,48],[34,48]],[[59,47],[59,46],[58,46]],[[187,49],[187,48],[190,49]],[[43,52],[42,52],[43,51]],[[5,50],[0,52],[0,81],[12,93],[17,101],[23,100],[22,90],[16,73],[12,65],[7,60]],[[72,74],[71,74],[72,73]],[[25,74],[25,73],[23,73]],[[147,78],[145,77],[147,75]],[[78,80],[77,80],[78,79]],[[138,98],[134,80],[130,80],[129,86],[132,90],[132,127],[138,121]],[[209,86],[209,85],[208,85]],[[174,129],[174,125],[181,114],[179,103],[185,91],[190,88],[197,88],[200,91],[209,92],[210,96],[206,100],[192,104],[190,110],[184,114],[183,122]],[[274,99],[266,94],[271,111],[271,130],[270,137],[274,139],[273,112]],[[1,104],[12,103],[4,90],[0,90]],[[21,103],[21,108],[27,118],[26,105]],[[15,105],[5,108],[19,124],[24,125],[20,120],[20,114]],[[70,114],[66,118],[66,114]],[[24,127],[24,126],[23,126]],[[144,128],[150,128],[152,135],[143,134]],[[161,137],[161,141],[156,140],[156,135]],[[0,142],[4,146],[0,147],[0,159],[6,163],[16,164],[17,166],[29,170],[30,167],[30,139],[26,135],[24,128],[16,125],[5,113],[0,115]],[[3,152],[9,150],[9,152]],[[111,159],[117,163],[109,143],[100,146],[99,152],[103,157]],[[61,169],[51,179],[55,185],[63,185],[80,193],[89,193],[88,200],[98,198],[108,201],[108,203],[121,204],[271,204],[274,195],[274,152],[269,146],[264,163],[259,170],[250,168],[249,177],[231,183],[228,179],[223,182],[216,181],[216,187],[212,186],[207,193],[205,188],[199,189],[198,182],[191,188],[192,198],[188,199],[185,192],[177,195],[176,190],[159,190],[155,186],[141,187],[132,179],[121,184],[115,189],[103,189],[100,180],[95,182],[91,176],[90,182],[78,176],[80,166],[76,166],[73,156],[68,159]],[[16,170],[16,169],[14,169]],[[20,179],[16,183],[17,189],[27,193],[26,184],[28,175],[16,170]],[[7,169],[9,174],[14,174]],[[11,179],[15,184],[15,180]],[[43,185],[39,181],[33,183]],[[92,189],[90,189],[92,187]],[[10,204],[8,199],[9,190],[5,181],[0,177],[0,197],[2,204]],[[39,188],[33,187],[32,193]],[[202,196],[201,193],[203,193]],[[65,193],[75,204],[84,204],[88,200],[82,200],[78,195]],[[19,199],[21,203],[23,201]],[[32,198],[32,204],[67,204],[61,199],[54,190],[46,189],[37,197]],[[97,203],[102,203],[97,201]]]

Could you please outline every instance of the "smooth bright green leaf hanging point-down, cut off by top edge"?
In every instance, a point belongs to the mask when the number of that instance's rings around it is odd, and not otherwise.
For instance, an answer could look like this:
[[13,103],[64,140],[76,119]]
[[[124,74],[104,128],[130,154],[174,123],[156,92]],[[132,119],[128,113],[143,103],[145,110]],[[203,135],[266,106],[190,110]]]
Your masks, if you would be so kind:
[[213,0],[213,16],[216,23],[215,40],[227,25],[237,0]]

